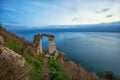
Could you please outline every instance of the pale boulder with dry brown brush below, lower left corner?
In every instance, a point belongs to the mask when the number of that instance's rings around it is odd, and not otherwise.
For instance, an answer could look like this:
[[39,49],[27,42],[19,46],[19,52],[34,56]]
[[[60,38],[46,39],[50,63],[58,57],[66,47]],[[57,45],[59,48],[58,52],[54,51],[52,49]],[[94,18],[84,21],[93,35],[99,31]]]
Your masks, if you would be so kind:
[[25,80],[25,59],[0,45],[0,80]]

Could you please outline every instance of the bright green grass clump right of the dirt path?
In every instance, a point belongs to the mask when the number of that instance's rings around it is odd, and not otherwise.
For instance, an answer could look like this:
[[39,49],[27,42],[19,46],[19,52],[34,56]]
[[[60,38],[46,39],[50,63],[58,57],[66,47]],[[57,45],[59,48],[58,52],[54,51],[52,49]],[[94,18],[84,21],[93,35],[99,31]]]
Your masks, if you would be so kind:
[[51,80],[70,80],[69,77],[66,75],[64,67],[53,58],[49,58],[48,64],[51,70]]

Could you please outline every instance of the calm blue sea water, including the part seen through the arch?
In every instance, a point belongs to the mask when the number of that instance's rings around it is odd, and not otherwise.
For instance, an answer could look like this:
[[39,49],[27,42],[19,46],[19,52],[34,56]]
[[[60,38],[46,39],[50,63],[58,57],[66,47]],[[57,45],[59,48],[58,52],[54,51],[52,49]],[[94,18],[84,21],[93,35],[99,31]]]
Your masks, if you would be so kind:
[[[55,35],[58,50],[90,71],[112,71],[120,75],[120,33],[48,32]],[[18,34],[33,41],[32,34]],[[48,49],[48,38],[43,37]]]

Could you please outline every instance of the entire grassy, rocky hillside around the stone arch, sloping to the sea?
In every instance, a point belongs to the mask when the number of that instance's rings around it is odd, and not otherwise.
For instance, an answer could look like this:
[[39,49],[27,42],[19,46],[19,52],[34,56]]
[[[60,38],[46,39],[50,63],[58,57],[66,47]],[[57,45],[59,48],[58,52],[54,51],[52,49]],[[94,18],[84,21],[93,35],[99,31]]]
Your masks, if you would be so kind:
[[33,43],[0,27],[1,80],[102,80],[58,54],[56,60],[38,55]]

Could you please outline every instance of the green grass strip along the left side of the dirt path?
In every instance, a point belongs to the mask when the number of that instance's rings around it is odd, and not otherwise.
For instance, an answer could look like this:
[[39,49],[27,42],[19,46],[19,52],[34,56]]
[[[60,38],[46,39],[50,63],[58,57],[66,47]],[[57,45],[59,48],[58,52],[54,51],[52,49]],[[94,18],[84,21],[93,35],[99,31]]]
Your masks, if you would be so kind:
[[24,54],[23,57],[25,58],[27,64],[32,66],[31,69],[31,78],[32,80],[43,80],[42,79],[42,67],[43,67],[43,60],[33,58],[27,54]]

